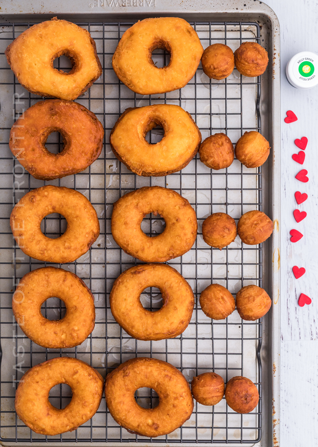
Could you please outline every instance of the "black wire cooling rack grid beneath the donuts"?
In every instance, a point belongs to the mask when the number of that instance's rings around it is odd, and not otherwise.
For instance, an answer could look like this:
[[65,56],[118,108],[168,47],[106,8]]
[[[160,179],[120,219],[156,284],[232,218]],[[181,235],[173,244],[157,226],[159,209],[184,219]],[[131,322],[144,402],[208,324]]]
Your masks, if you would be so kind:
[[[262,245],[246,246],[239,238],[222,249],[212,249],[202,238],[202,222],[210,214],[225,212],[237,222],[250,210],[262,210],[261,168],[246,169],[238,160],[220,171],[208,169],[197,155],[189,165],[166,177],[138,177],[114,157],[109,146],[109,133],[119,115],[127,107],[155,103],[177,104],[195,119],[203,139],[216,132],[225,132],[235,143],[250,130],[261,132],[260,78],[242,77],[236,70],[221,81],[209,79],[201,65],[193,79],[181,90],[142,96],[134,94],[115,76],[111,57],[123,32],[133,22],[78,23],[88,29],[97,44],[97,52],[104,68],[103,74],[77,102],[92,110],[105,126],[104,150],[100,158],[86,171],[60,180],[43,182],[34,179],[12,157],[8,148],[10,128],[22,113],[37,101],[37,95],[28,93],[9,69],[4,50],[22,31],[34,23],[0,24],[0,340],[1,340],[1,397],[0,439],[4,442],[109,442],[109,443],[217,443],[254,444],[261,439],[262,429],[262,320],[242,321],[235,310],[226,320],[211,321],[202,312],[200,293],[212,282],[227,287],[235,296],[245,285],[262,286]],[[260,26],[252,22],[192,22],[204,48],[212,43],[225,43],[233,50],[242,41],[262,44]],[[161,50],[153,54],[158,67],[167,65],[169,55]],[[68,71],[69,61],[61,57],[54,61],[59,70]],[[162,138],[162,129],[155,128],[148,135],[151,143]],[[53,153],[62,150],[60,134],[50,135],[47,147]],[[91,336],[82,345],[72,349],[44,349],[31,342],[14,321],[11,298],[15,285],[30,270],[49,265],[28,258],[15,245],[9,226],[12,207],[26,192],[47,184],[67,186],[84,194],[95,207],[101,225],[101,235],[88,253],[73,263],[55,265],[70,270],[82,278],[92,290],[96,306],[96,325]],[[185,332],[171,340],[137,341],[128,336],[115,322],[109,307],[109,293],[113,281],[125,269],[140,261],[125,254],[114,242],[110,231],[112,204],[123,194],[142,186],[160,185],[176,190],[186,197],[196,210],[199,224],[198,237],[192,249],[181,258],[168,262],[191,285],[196,299],[192,320]],[[59,215],[50,215],[42,222],[42,230],[49,237],[58,237],[65,231],[66,221]],[[147,216],[142,229],[155,236],[162,232],[164,221]],[[143,292],[143,305],[156,310],[162,300],[155,288]],[[58,298],[49,298],[42,309],[51,319],[60,319],[65,313]],[[260,402],[254,412],[234,413],[223,398],[213,407],[195,403],[192,417],[183,427],[167,436],[148,439],[132,435],[120,428],[106,409],[103,398],[99,411],[75,432],[46,437],[33,433],[14,411],[14,395],[19,379],[29,368],[59,356],[77,357],[96,368],[104,377],[122,362],[138,357],[154,357],[180,369],[190,382],[207,371],[220,374],[225,382],[235,375],[251,378],[260,392]],[[50,401],[64,408],[71,398],[67,385],[56,385],[50,392]],[[137,402],[145,408],[158,404],[153,390],[141,388],[136,392]]]

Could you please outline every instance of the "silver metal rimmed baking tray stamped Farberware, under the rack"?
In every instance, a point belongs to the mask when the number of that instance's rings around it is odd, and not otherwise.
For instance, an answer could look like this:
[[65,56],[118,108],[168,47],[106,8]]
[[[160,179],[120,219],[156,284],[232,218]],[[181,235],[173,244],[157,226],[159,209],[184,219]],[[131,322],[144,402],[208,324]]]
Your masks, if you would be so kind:
[[[200,4],[170,4],[159,0],[95,0],[79,1],[70,7],[50,2],[48,9],[41,2],[31,1],[14,10],[10,2],[1,4],[0,24],[0,341],[2,349],[0,438],[1,444],[53,445],[61,443],[121,443],[177,445],[257,445],[279,443],[279,27],[273,11],[258,1],[202,1]],[[21,8],[20,8],[21,6]],[[71,10],[72,9],[72,10]],[[75,188],[93,203],[97,210],[101,235],[90,252],[74,263],[62,267],[75,272],[91,288],[96,305],[96,326],[82,345],[65,350],[46,350],[30,342],[14,322],[11,297],[15,284],[28,271],[48,265],[26,257],[13,243],[9,215],[14,203],[28,190],[42,186],[13,159],[8,149],[8,134],[14,117],[38,100],[14,78],[3,55],[13,38],[34,23],[54,15],[66,18],[88,29],[97,44],[104,68],[102,77],[78,102],[90,108],[105,126],[104,150],[101,157],[86,171],[61,180],[45,182]],[[241,77],[237,71],[223,81],[210,80],[201,66],[194,78],[180,91],[165,95],[136,95],[119,82],[111,68],[111,56],[122,33],[136,20],[148,16],[176,15],[188,20],[198,32],[203,46],[226,43],[235,50],[242,41],[261,43],[269,56],[269,65],[261,78]],[[153,56],[160,66],[168,55],[157,51]],[[56,60],[56,68],[67,68],[68,61]],[[114,157],[108,144],[109,132],[118,116],[127,108],[155,103],[177,104],[192,114],[203,138],[211,133],[226,132],[233,143],[246,130],[259,130],[269,140],[271,155],[262,168],[246,169],[238,160],[226,170],[211,171],[199,157],[180,173],[161,178],[133,175]],[[155,143],[161,129],[149,135]],[[48,148],[61,150],[58,134],[52,134]],[[197,297],[193,318],[187,330],[176,339],[141,342],[129,337],[114,321],[109,309],[109,292],[121,271],[139,263],[115,244],[110,232],[112,203],[128,191],[146,185],[160,185],[186,197],[197,212],[199,234],[192,250],[169,262],[192,286]],[[238,220],[241,214],[260,209],[275,223],[274,233],[263,246],[243,246],[239,238],[228,248],[211,249],[202,239],[202,222],[212,212],[223,211]],[[43,231],[57,237],[65,230],[65,220],[50,215],[43,221]],[[158,216],[145,218],[143,230],[156,235],[164,228]],[[211,282],[227,287],[234,295],[242,285],[263,286],[272,297],[271,311],[256,322],[242,321],[235,311],[227,320],[209,320],[201,311],[199,297]],[[160,294],[155,289],[144,291],[142,302],[155,310]],[[63,316],[63,303],[50,298],[43,313],[49,318]],[[129,434],[113,421],[103,399],[98,413],[76,432],[58,437],[32,433],[14,412],[14,393],[18,380],[30,367],[53,357],[72,356],[90,363],[102,375],[135,356],[155,357],[179,368],[190,381],[194,375],[215,371],[228,380],[234,375],[250,377],[258,386],[261,399],[249,415],[238,415],[223,399],[215,407],[195,405],[194,413],[184,426],[166,437],[147,439]],[[57,385],[50,393],[58,408],[70,399],[70,390]],[[156,393],[140,389],[139,404],[150,407],[158,403]]]

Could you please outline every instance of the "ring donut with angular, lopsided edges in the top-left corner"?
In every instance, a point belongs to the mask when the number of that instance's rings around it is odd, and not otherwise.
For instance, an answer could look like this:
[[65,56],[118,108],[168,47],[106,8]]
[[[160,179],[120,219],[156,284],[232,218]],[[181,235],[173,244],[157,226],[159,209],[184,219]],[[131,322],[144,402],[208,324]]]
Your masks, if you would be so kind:
[[[62,55],[71,60],[69,73],[53,68],[54,59]],[[7,47],[5,56],[20,84],[40,96],[71,101],[102,74],[90,33],[56,17],[20,34]]]

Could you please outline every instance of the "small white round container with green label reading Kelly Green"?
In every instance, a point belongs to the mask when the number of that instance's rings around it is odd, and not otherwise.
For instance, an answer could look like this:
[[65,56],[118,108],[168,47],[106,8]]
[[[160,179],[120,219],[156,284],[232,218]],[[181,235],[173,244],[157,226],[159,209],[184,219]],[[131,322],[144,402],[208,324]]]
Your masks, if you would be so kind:
[[286,76],[293,87],[315,87],[318,84],[318,55],[310,51],[295,54],[287,64]]

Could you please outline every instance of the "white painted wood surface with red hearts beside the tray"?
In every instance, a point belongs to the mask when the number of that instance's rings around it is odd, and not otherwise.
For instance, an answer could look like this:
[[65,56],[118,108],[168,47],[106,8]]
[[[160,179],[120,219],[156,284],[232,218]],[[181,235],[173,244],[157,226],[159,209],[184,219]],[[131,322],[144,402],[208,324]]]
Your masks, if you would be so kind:
[[[281,34],[281,403],[280,447],[318,445],[318,87],[305,91],[292,87],[285,76],[288,60],[304,50],[318,54],[318,1],[266,0],[280,22]],[[285,112],[293,110],[298,121],[284,123]],[[298,153],[294,140],[306,136],[308,146],[302,165],[292,160]],[[308,183],[295,175],[308,170]],[[306,192],[308,200],[297,205],[295,191]],[[307,217],[299,224],[293,217],[298,208]],[[304,234],[290,242],[289,231]],[[298,280],[292,267],[305,267]],[[310,306],[299,307],[298,297],[312,298]]]

